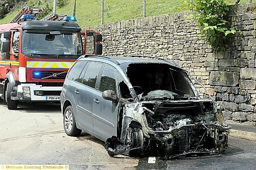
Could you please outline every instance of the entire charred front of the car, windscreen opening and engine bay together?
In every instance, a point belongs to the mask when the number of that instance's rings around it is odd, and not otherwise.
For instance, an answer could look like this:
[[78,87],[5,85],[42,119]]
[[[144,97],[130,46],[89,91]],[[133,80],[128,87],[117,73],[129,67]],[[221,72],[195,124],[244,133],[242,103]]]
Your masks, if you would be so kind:
[[108,154],[153,154],[171,159],[223,153],[231,127],[225,124],[215,101],[200,99],[182,70],[149,65],[127,68],[134,85],[131,91],[138,100],[122,101],[119,135],[106,141]]

